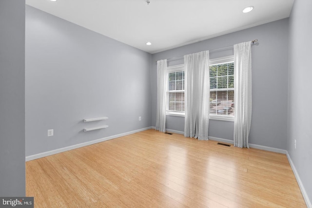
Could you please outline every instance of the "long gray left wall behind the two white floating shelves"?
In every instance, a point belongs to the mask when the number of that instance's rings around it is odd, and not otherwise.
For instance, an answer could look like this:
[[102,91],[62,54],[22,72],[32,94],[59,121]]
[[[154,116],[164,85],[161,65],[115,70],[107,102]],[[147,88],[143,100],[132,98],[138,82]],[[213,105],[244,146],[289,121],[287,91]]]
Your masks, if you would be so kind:
[[26,156],[151,126],[150,58],[26,6]]

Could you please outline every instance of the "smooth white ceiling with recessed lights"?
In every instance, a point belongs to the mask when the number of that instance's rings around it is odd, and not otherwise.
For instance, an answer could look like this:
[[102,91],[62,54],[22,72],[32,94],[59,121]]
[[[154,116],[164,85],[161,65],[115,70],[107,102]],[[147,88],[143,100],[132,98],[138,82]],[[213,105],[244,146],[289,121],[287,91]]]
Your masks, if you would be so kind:
[[[151,54],[290,15],[293,0],[26,0]],[[246,6],[250,13],[242,13]],[[147,46],[146,42],[152,42]]]

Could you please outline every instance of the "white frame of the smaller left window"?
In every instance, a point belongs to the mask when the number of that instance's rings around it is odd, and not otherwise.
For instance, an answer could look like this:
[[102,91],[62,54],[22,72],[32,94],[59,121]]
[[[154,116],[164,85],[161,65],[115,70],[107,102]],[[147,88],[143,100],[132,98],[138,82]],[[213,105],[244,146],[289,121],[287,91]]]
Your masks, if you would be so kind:
[[[169,111],[168,108],[168,103],[169,103],[169,74],[172,72],[179,72],[179,71],[183,71],[184,72],[184,81],[185,81],[185,70],[184,70],[184,64],[177,64],[177,65],[173,65],[173,66],[169,66],[167,67],[167,77],[168,77],[168,82],[166,83],[166,97],[167,97],[167,101],[166,101],[166,115],[174,115],[174,116],[181,116],[184,117],[185,116],[185,111],[184,112],[180,112],[180,111]],[[184,83],[183,83],[184,85]],[[185,85],[184,85],[185,86]],[[176,91],[177,92],[177,91]],[[185,88],[184,90],[179,90],[178,92],[184,92],[184,96],[185,96]],[[185,102],[185,100],[184,100]],[[185,103],[184,103],[185,106]]]

